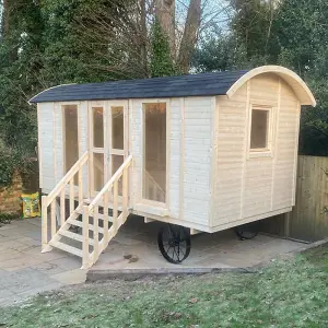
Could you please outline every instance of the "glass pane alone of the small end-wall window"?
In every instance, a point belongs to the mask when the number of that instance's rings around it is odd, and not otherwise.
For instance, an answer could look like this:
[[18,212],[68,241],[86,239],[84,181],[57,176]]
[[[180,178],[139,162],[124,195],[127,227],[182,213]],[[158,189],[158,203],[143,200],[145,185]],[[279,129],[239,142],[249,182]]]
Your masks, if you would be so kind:
[[268,148],[269,110],[253,109],[250,149]]

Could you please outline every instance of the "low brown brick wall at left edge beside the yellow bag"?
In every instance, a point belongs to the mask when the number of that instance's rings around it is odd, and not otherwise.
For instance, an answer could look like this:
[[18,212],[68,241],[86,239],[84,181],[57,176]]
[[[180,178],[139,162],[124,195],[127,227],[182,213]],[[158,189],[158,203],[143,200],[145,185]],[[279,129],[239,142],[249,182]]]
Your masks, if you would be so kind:
[[20,213],[22,196],[22,179],[19,174],[14,174],[11,186],[0,188],[0,214]]

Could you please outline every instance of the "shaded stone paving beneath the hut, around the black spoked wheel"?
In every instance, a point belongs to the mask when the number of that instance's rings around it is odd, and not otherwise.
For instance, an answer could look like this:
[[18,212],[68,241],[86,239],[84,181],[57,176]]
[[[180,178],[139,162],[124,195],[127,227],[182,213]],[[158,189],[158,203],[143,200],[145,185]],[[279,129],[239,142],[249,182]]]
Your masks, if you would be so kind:
[[239,241],[232,230],[202,233],[191,236],[189,257],[180,265],[172,265],[157,247],[161,224],[144,224],[141,218],[129,218],[89,274],[121,269],[246,268],[304,247],[302,243],[262,234],[251,241]]

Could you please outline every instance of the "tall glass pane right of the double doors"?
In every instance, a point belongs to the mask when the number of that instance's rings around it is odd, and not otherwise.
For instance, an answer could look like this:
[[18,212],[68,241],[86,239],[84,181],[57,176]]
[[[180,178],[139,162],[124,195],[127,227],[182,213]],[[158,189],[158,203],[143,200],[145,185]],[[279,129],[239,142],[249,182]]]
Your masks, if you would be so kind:
[[143,104],[144,176],[143,197],[165,202],[166,190],[166,104]]

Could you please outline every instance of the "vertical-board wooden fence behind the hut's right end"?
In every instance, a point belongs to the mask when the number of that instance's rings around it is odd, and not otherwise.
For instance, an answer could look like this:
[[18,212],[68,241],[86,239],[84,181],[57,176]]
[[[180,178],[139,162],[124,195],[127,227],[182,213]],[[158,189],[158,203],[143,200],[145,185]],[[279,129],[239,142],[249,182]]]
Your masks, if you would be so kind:
[[262,221],[262,230],[301,241],[328,237],[328,157],[298,156],[296,204]]

